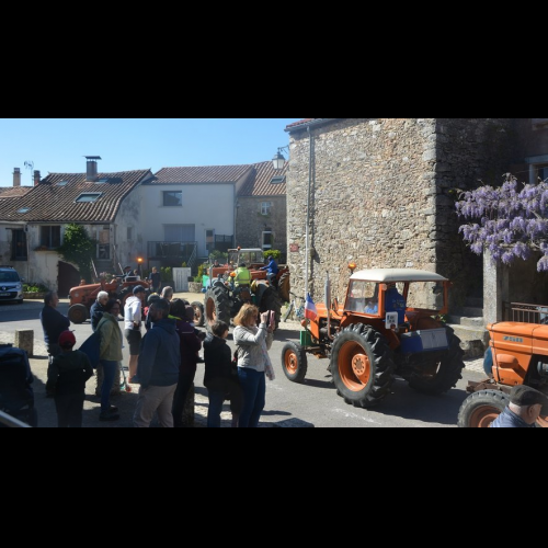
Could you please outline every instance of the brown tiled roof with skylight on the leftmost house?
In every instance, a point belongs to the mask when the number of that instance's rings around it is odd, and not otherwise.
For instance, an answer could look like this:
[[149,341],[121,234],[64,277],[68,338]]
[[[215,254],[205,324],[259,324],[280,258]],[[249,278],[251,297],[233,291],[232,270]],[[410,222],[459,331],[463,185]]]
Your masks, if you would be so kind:
[[[0,220],[26,222],[112,222],[122,201],[140,182],[152,176],[150,170],[99,173],[104,184],[87,183],[85,173],[50,173],[25,196],[0,199]],[[57,183],[67,182],[66,185]],[[76,203],[82,193],[101,193],[93,203]],[[27,213],[20,213],[28,208]]]

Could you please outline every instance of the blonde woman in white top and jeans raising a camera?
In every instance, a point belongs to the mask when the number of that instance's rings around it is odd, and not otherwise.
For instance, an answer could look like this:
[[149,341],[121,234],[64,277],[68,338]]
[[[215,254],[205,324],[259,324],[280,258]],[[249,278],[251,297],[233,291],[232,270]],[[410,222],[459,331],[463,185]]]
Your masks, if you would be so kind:
[[238,378],[243,392],[243,407],[240,413],[240,429],[256,429],[265,404],[265,375],[273,378],[269,350],[274,340],[272,328],[267,327],[270,312],[261,315],[256,327],[259,309],[243,305],[235,318],[235,342],[238,347]]

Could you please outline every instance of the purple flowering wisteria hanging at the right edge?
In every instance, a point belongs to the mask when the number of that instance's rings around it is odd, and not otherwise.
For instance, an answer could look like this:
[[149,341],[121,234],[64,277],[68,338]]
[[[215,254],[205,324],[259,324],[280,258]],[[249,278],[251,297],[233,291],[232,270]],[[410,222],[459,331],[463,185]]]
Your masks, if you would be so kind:
[[459,232],[473,253],[489,250],[494,261],[511,265],[540,251],[537,270],[548,271],[548,180],[524,185],[507,174],[500,187],[481,186],[460,197],[457,214],[470,222]]

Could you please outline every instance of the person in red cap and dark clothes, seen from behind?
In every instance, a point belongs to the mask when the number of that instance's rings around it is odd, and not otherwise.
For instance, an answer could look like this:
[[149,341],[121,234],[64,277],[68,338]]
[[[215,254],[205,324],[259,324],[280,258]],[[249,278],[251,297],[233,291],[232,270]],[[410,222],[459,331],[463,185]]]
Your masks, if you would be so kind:
[[59,429],[81,429],[85,383],[93,376],[89,357],[72,350],[76,336],[72,331],[59,335],[60,354],[47,368],[46,390],[54,395]]

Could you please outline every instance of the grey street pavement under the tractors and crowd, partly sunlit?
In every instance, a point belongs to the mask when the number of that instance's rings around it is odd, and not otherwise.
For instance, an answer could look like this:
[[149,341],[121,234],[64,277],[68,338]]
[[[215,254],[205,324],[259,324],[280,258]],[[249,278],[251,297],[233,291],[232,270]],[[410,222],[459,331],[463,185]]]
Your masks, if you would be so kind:
[[[176,294],[175,297],[189,301],[202,301],[202,294]],[[38,410],[38,427],[55,427],[57,415],[53,399],[45,396],[47,379],[47,353],[43,342],[39,323],[41,301],[25,301],[23,305],[0,304],[0,342],[14,341],[16,329],[34,330],[34,356],[31,367],[35,375],[34,391]],[[62,299],[59,311],[67,313],[68,301]],[[91,334],[89,321],[81,326],[72,326],[77,336],[77,347]],[[232,330],[231,330],[232,331]],[[458,409],[468,396],[468,380],[484,377],[482,361],[466,362],[463,380],[447,395],[427,397],[420,395],[398,379],[392,393],[374,410],[355,409],[344,403],[336,396],[327,370],[329,362],[309,356],[307,378],[302,385],[290,383],[284,375],[281,364],[282,349],[287,341],[298,342],[300,326],[298,322],[286,322],[279,326],[271,350],[271,357],[276,372],[276,379],[267,381],[266,408],[261,419],[262,427],[456,427]],[[229,344],[235,349],[231,335]],[[127,366],[127,349],[124,349],[124,365]],[[127,375],[127,367],[126,367]],[[195,380],[195,427],[203,427],[207,419],[207,390],[203,386],[204,369],[198,365]],[[87,386],[84,402],[84,427],[132,427],[132,418],[138,395],[138,385],[132,386],[132,392],[122,392],[113,398],[112,403],[119,408],[121,420],[116,422],[99,422],[100,401],[94,396],[95,378]],[[229,427],[231,414],[226,402],[221,415],[222,426]]]

